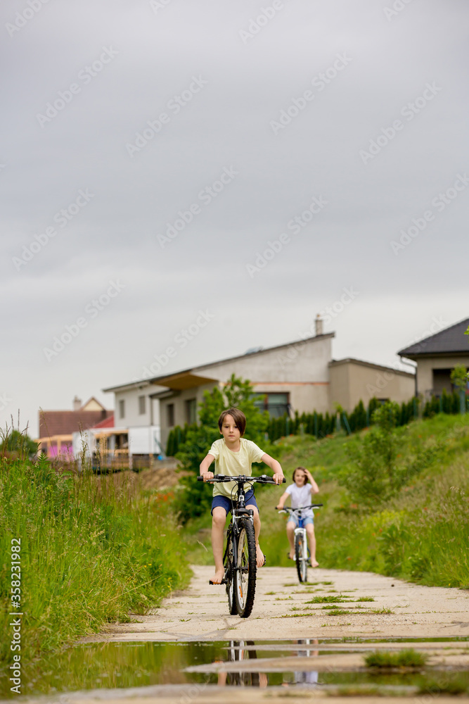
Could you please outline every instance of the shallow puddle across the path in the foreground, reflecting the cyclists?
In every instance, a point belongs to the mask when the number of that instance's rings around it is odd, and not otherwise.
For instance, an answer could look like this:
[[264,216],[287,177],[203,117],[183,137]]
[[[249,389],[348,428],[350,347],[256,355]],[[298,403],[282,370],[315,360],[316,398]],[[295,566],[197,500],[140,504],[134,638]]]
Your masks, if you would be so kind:
[[[423,653],[425,665],[382,670],[366,667],[368,653]],[[41,671],[23,674],[23,694],[155,686],[243,686],[350,689],[412,695],[469,693],[468,639],[302,639],[296,641],[191,641],[85,643],[68,648]],[[143,692],[143,690],[141,690]],[[1,698],[11,693],[4,681]],[[13,695],[15,696],[15,695]]]

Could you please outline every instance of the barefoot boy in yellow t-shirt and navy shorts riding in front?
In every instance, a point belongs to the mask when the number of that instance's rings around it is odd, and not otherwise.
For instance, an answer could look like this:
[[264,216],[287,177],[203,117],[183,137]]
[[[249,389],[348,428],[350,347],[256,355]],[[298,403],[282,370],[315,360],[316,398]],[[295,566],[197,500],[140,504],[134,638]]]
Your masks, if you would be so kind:
[[[243,438],[246,429],[246,417],[242,410],[229,408],[221,413],[218,419],[218,427],[223,438],[215,440],[210,451],[205,455],[200,463],[200,475],[204,482],[213,479],[213,472],[209,472],[209,467],[215,460],[215,474],[229,474],[236,477],[239,474],[250,475],[252,462],[264,462],[274,471],[274,482],[283,482],[283,471],[280,463],[270,455],[267,455],[251,440]],[[214,484],[212,501],[212,550],[215,561],[215,574],[212,577],[214,584],[221,584],[224,577],[223,567],[223,531],[226,523],[226,515],[231,511],[231,489],[236,484],[226,482]],[[254,489],[246,486],[245,503],[246,508],[254,511],[254,530],[256,536],[257,567],[262,567],[265,562],[264,554],[259,547],[259,532],[261,522],[259,510],[254,496]]]

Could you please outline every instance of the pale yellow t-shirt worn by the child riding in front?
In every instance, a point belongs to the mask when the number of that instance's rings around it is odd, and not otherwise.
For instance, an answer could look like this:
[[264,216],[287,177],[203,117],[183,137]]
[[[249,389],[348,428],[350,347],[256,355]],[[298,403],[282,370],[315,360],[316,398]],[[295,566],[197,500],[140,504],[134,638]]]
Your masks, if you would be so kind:
[[[233,452],[226,447],[224,438],[215,440],[208,451],[209,455],[215,458],[214,474],[229,474],[230,477],[238,477],[240,474],[250,476],[252,474],[251,463],[260,462],[264,451],[252,440],[240,438],[240,448],[238,452]],[[213,485],[214,496],[228,496],[231,498],[231,491],[236,484],[234,482],[220,482]],[[249,484],[245,484],[245,490],[250,489]],[[233,496],[235,494],[233,491]]]

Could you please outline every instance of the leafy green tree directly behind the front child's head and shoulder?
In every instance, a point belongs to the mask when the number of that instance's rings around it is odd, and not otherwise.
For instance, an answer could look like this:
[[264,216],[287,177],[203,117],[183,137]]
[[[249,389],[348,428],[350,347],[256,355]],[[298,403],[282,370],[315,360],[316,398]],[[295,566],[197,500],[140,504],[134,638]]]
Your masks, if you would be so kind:
[[212,492],[203,482],[197,482],[196,477],[200,473],[200,463],[212,443],[220,437],[218,418],[226,408],[242,410],[246,416],[245,438],[262,444],[269,414],[266,411],[261,413],[255,406],[255,391],[247,379],[233,374],[223,390],[215,386],[212,391],[205,391],[203,402],[199,405],[200,425],[188,428],[186,441],[176,452],[182,469],[188,472],[181,479],[183,488],[176,498],[176,509],[183,522],[210,510]]

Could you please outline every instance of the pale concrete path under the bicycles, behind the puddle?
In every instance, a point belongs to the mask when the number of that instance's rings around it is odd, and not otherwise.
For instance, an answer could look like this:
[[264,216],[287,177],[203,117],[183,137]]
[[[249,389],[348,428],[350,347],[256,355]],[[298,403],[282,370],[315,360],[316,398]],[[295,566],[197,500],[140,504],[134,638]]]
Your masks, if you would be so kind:
[[[319,569],[309,570],[311,584],[303,586],[293,567],[263,567],[252,615],[241,619],[229,615],[224,586],[208,584],[212,569],[193,567],[189,589],[173,593],[151,615],[112,624],[86,642],[469,636],[468,591]],[[347,613],[329,615],[328,605],[307,603],[318,596],[346,598],[338,607]],[[356,601],[360,597],[374,601]]]

